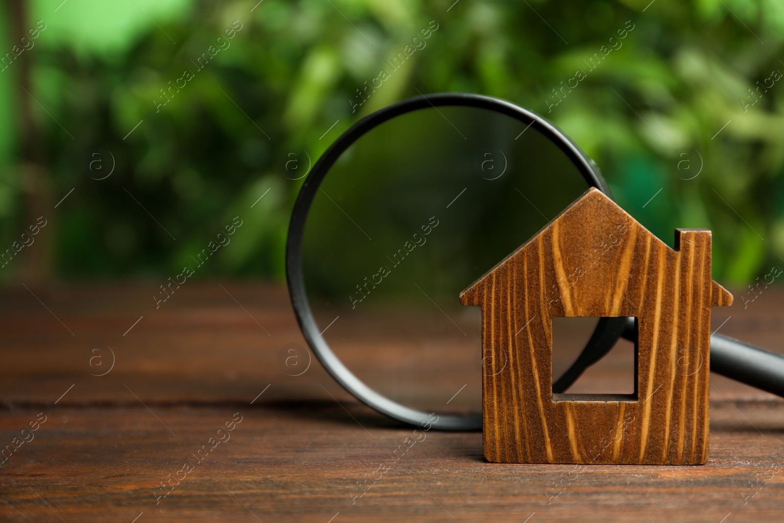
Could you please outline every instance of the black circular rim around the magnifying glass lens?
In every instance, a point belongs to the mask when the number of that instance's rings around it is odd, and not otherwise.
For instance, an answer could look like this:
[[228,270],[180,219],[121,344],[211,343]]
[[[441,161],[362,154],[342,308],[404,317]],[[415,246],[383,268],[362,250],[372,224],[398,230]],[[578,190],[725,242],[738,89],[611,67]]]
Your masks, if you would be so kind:
[[310,303],[307,300],[302,270],[302,242],[310,205],[321,185],[321,180],[324,180],[329,169],[332,168],[339,156],[356,142],[360,136],[391,118],[418,111],[419,109],[443,106],[488,109],[506,114],[523,122],[528,127],[533,127],[539,133],[543,133],[550,138],[572,160],[572,163],[577,166],[580,174],[583,175],[590,187],[597,187],[597,189],[612,198],[609,187],[593,160],[588,158],[587,154],[554,125],[546,122],[531,111],[526,111],[522,107],[518,107],[506,100],[478,94],[437,93],[416,96],[415,98],[401,100],[396,104],[379,109],[379,111],[369,114],[354,125],[351,125],[318,159],[318,162],[316,162],[310,175],[307,176],[302,188],[299,190],[299,195],[294,204],[292,219],[289,223],[289,236],[286,243],[286,278],[289,281],[289,295],[291,296],[292,307],[294,307],[294,313],[297,321],[299,321],[299,328],[302,329],[305,340],[307,340],[310,348],[313,349],[318,360],[321,361],[321,365],[324,365],[324,368],[327,369],[327,372],[350,394],[353,394],[355,398],[358,398],[358,400],[372,409],[376,409],[378,412],[382,412],[390,416],[390,418],[404,423],[422,427],[430,423],[432,427],[441,430],[481,430],[481,414],[472,416],[439,415],[437,423],[434,423],[434,419],[430,417],[429,412],[410,409],[405,405],[392,401],[376,392],[376,390],[372,390],[372,388],[359,380],[357,376],[354,376],[354,373],[346,365],[343,365],[343,362],[332,352],[326,340],[321,337],[313,312],[310,310]]

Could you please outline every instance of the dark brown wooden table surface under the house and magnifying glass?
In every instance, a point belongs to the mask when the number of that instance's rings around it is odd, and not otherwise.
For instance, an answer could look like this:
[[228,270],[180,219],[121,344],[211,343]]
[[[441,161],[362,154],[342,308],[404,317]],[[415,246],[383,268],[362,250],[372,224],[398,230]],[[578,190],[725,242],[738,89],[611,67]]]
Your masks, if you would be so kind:
[[[315,359],[291,376],[281,354],[304,341],[284,287],[189,283],[156,310],[156,285],[0,291],[0,445],[13,451],[0,520],[782,520],[784,401],[770,394],[712,376],[705,466],[492,464],[479,432],[412,443],[412,427],[359,404]],[[767,289],[746,309],[714,308],[713,329],[782,348],[782,304]],[[436,329],[421,359],[405,336],[342,321],[330,328],[341,357],[374,387],[441,412],[479,405],[475,316],[457,319],[468,332],[454,357]],[[584,391],[620,380],[628,354],[615,353]]]

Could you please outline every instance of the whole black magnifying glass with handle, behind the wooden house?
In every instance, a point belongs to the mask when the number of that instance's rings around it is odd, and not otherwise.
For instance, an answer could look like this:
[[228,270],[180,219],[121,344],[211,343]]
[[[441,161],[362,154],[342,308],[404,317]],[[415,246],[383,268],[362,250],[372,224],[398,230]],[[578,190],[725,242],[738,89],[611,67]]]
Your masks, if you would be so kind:
[[[612,198],[575,143],[503,100],[419,96],[361,119],[314,165],[292,213],[286,270],[305,339],[373,409],[481,429],[481,312],[459,293],[589,187]],[[599,320],[554,392],[621,336],[633,339],[633,323]],[[760,387],[747,358],[756,350],[768,372],[761,388],[784,392],[784,357],[728,340],[717,361],[712,338],[712,370],[733,372],[740,359],[742,381]]]

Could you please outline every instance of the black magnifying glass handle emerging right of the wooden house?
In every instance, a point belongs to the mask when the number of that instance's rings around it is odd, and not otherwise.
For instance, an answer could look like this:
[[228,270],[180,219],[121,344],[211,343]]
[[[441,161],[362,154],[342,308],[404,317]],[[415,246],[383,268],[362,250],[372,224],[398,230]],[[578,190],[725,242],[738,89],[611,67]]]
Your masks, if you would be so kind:
[[[631,318],[630,318],[631,319]],[[634,321],[623,335],[634,341]],[[729,336],[710,336],[710,371],[784,398],[784,355]]]

